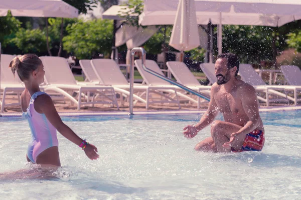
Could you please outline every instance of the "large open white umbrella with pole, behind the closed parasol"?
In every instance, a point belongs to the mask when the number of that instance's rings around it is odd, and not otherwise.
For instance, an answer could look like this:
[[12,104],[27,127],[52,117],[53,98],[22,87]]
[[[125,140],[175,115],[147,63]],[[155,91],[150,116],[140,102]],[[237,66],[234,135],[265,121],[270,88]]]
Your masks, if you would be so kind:
[[[173,24],[179,0],[144,0],[141,25]],[[301,19],[301,0],[195,0],[198,24],[281,26]]]

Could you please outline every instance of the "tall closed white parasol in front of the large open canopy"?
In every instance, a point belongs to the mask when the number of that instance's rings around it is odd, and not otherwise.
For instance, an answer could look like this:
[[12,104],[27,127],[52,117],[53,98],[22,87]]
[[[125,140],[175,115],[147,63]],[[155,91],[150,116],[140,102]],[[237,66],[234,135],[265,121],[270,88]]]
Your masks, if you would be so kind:
[[169,45],[183,51],[200,45],[194,0],[180,0]]

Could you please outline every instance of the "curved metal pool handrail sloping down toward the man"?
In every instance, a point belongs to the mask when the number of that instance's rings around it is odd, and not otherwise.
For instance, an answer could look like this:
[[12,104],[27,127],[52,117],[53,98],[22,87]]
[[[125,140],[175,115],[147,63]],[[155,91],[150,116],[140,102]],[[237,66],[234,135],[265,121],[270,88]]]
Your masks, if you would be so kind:
[[193,89],[191,89],[191,88],[189,88],[189,87],[187,87],[187,86],[185,86],[185,85],[183,85],[183,84],[181,84],[181,83],[179,83],[179,82],[177,82],[177,81],[175,81],[175,80],[173,80],[171,78],[168,78],[168,77],[166,77],[166,76],[164,76],[164,75],[162,75],[160,73],[157,73],[156,71],[154,71],[152,69],[147,68],[146,65],[145,65],[146,51],[142,47],[135,47],[135,48],[133,48],[131,50],[131,60],[130,60],[130,78],[129,78],[129,80],[130,80],[129,114],[130,115],[133,115],[134,55],[135,55],[136,51],[140,51],[142,53],[142,59],[141,59],[141,61],[142,61],[142,68],[145,71],[147,71],[148,73],[151,73],[151,74],[153,74],[153,75],[155,75],[155,76],[157,76],[159,78],[162,78],[162,79],[168,81],[171,84],[177,85],[178,87],[184,89],[185,91],[188,91],[188,92],[190,92],[192,94],[195,94],[195,95],[197,95],[197,96],[199,96],[201,98],[204,98],[207,101],[210,101],[210,98],[208,98],[207,96],[204,96],[200,92],[197,92],[197,91],[195,91],[195,90],[193,90]]

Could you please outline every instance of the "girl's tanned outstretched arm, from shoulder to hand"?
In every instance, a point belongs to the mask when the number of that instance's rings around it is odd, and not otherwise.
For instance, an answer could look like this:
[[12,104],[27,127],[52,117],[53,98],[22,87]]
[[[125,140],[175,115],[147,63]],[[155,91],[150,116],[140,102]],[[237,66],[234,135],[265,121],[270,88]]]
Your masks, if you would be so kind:
[[[51,97],[47,94],[42,94],[35,99],[34,107],[37,112],[44,113],[50,123],[67,139],[80,145],[83,139],[80,138],[69,126],[67,126],[58,114]],[[97,148],[93,144],[88,144],[84,151],[90,159],[97,159],[99,155],[96,153]],[[95,152],[96,151],[96,152]]]

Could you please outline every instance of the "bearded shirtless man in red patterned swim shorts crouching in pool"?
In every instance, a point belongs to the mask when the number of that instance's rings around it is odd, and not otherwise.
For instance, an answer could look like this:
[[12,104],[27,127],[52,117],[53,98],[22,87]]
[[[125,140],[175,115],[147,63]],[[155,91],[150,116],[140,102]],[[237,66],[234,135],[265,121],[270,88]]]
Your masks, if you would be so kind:
[[[254,87],[237,77],[239,60],[222,53],[215,62],[217,82],[212,85],[207,111],[196,125],[187,125],[183,134],[192,138],[211,122],[211,137],[200,141],[196,150],[218,152],[258,150],[264,144],[264,128],[259,116]],[[225,121],[214,120],[218,111]]]

